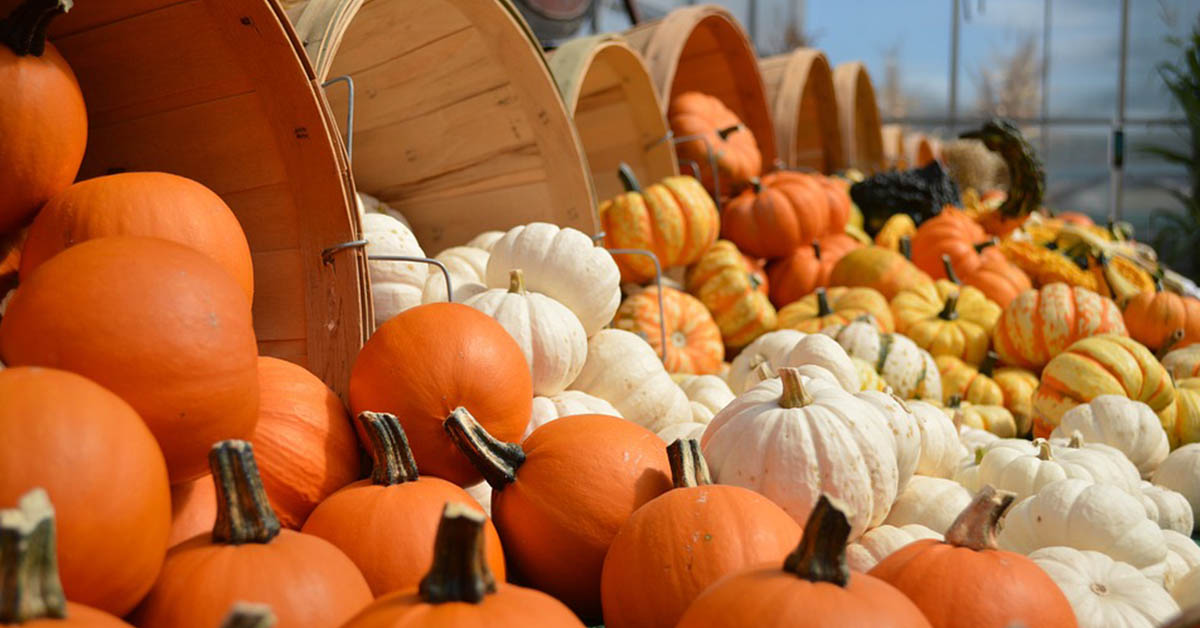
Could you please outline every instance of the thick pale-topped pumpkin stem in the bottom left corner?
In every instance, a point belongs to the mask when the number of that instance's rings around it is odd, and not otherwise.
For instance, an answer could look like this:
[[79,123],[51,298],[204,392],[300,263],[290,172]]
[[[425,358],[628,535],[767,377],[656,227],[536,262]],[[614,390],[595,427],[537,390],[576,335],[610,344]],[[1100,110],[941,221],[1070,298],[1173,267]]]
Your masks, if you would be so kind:
[[0,510],[0,624],[67,616],[55,545],[54,506],[44,490]]

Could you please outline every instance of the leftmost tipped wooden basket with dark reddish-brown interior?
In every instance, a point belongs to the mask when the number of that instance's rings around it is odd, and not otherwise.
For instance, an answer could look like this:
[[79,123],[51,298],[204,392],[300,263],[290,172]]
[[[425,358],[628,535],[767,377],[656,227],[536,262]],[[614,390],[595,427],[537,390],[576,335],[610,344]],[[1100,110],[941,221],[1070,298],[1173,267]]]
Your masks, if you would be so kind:
[[[18,0],[0,0],[7,14]],[[349,174],[313,76],[268,0],[76,2],[50,38],[88,103],[80,179],[163,171],[233,208],[254,263],[259,351],[344,395],[371,321]]]

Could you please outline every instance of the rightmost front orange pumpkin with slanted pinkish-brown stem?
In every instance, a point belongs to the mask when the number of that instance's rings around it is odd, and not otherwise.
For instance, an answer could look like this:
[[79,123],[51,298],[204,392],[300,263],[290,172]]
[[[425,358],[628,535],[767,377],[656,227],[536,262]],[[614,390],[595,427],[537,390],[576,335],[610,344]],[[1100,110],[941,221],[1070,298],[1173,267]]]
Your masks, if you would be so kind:
[[[899,588],[934,628],[1076,626],[1058,585],[1033,561],[996,549],[996,521],[1010,492],[984,486],[946,532],[880,561],[870,574]],[[982,592],[986,592],[983,594]]]

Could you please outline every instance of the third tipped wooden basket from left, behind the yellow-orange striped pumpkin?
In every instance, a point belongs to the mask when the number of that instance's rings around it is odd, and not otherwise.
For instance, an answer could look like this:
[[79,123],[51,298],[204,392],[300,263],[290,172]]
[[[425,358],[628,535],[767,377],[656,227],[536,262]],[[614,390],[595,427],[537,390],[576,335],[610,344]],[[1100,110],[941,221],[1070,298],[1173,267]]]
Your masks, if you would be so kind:
[[622,162],[646,184],[679,174],[659,95],[640,54],[617,37],[598,35],[572,40],[548,59],[601,201],[624,191],[617,178]]

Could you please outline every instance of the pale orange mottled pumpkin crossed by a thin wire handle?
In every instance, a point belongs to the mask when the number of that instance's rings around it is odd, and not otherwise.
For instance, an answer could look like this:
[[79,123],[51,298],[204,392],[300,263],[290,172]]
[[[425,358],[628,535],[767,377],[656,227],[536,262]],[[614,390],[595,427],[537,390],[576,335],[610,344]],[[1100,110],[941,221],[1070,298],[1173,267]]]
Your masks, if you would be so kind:
[[[637,334],[662,355],[659,312],[659,291],[652,286],[620,304],[612,327]],[[704,304],[691,294],[664,287],[661,312],[667,334],[664,361],[667,371],[695,375],[720,372],[725,345],[721,343],[721,330]]]

